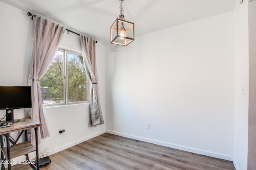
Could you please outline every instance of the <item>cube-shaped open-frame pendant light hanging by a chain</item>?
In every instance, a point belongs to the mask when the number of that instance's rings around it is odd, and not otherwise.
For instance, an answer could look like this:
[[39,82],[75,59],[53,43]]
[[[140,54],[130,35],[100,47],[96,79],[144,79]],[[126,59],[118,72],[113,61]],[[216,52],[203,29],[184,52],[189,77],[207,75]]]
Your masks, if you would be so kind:
[[134,23],[124,19],[123,1],[120,0],[120,15],[110,27],[110,42],[118,45],[128,45],[134,40]]

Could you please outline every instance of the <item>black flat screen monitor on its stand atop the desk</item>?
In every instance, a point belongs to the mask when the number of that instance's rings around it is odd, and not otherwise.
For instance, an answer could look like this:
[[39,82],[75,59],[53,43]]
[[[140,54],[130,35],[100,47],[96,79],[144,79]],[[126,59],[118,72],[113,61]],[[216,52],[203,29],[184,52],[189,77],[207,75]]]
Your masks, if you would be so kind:
[[0,86],[0,109],[6,109],[6,120],[13,119],[8,115],[10,110],[30,107],[31,86]]

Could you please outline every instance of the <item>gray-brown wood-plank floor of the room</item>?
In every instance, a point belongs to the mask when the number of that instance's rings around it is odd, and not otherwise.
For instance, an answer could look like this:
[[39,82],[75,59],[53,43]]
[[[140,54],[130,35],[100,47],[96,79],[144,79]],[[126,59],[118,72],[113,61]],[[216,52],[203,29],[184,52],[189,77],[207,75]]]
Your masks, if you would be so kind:
[[[234,170],[231,161],[105,133],[50,157],[42,170]],[[25,170],[25,169],[24,169]]]

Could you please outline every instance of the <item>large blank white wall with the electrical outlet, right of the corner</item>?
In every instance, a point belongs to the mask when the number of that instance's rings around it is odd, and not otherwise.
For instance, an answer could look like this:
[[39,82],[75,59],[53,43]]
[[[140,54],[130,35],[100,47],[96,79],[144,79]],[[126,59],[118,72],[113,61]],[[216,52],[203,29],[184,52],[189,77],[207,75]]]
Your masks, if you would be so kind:
[[233,12],[106,45],[106,58],[107,132],[232,160]]

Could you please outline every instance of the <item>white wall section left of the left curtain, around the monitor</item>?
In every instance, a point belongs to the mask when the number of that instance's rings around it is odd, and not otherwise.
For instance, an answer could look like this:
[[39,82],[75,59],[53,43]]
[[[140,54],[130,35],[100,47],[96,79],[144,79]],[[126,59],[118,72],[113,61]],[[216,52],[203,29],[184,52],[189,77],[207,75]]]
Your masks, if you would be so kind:
[[[6,17],[6,14],[9,16]],[[26,13],[0,2],[0,86],[26,86],[30,69],[33,24]],[[24,109],[14,110],[14,119],[25,116]],[[5,110],[0,110],[0,117]]]

